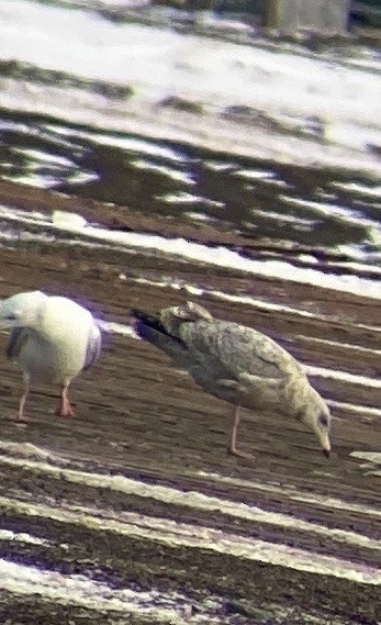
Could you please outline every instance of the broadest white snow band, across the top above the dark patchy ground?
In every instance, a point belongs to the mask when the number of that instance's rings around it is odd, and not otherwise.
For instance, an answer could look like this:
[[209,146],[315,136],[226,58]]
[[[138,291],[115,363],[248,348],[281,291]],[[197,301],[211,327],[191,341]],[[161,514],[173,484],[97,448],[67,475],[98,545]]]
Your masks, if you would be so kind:
[[[112,108],[93,92],[86,99],[85,89],[57,88],[54,97],[55,86],[38,89],[26,82],[21,88],[16,78],[13,92],[12,79],[5,77],[1,103],[11,110],[16,104],[19,110],[33,105],[34,112],[70,118],[71,122],[82,121],[102,130],[142,132],[143,127],[150,137],[184,138],[220,149],[226,146],[231,152],[283,163],[377,170],[377,157],[367,150],[369,144],[379,145],[381,134],[376,55],[367,59],[358,55],[350,63],[340,63],[333,55],[298,54],[295,46],[254,48],[192,33],[184,36],[173,29],[115,23],[91,11],[27,0],[0,2],[0,40],[4,60],[134,89],[132,98]],[[189,124],[188,119],[181,123],[181,115],[178,119],[171,110],[156,109],[153,114],[153,107],[172,94],[200,102],[212,112],[216,102],[220,110],[239,103],[291,125],[300,120],[302,127],[311,126],[311,119],[317,118],[327,141],[298,139],[255,124],[248,132],[247,126],[212,113],[199,115],[197,125]]]

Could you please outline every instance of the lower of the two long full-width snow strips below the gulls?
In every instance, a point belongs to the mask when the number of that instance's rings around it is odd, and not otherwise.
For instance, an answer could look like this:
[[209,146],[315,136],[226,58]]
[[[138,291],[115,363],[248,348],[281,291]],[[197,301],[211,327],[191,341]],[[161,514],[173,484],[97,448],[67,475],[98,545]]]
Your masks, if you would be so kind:
[[[315,574],[327,574],[348,579],[358,583],[381,584],[381,572],[371,566],[359,565],[349,560],[324,556],[287,545],[276,545],[253,537],[236,535],[208,526],[177,523],[167,518],[155,518],[138,514],[123,513],[117,518],[99,516],[101,511],[79,506],[64,506],[24,503],[0,496],[0,506],[16,510],[31,516],[53,518],[61,523],[75,523],[90,527],[93,532],[112,532],[126,536],[137,536],[170,546],[208,549],[217,554],[234,556],[257,562],[292,568]],[[96,515],[96,514],[97,515]],[[120,520],[123,518],[123,521]],[[130,518],[128,518],[130,517]],[[79,577],[79,576],[78,576]],[[76,581],[78,581],[78,577]],[[7,583],[7,578],[2,583]],[[94,583],[94,582],[91,582]],[[47,584],[49,585],[49,584]],[[29,587],[27,587],[29,588]],[[76,583],[68,590],[75,591]],[[83,588],[83,591],[94,590]],[[104,584],[101,592],[104,593]]]

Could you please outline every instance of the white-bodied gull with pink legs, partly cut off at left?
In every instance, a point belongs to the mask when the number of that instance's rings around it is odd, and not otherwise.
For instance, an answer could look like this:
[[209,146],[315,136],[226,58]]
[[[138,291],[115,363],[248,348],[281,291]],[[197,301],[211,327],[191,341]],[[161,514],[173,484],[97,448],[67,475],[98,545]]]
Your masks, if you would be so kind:
[[0,328],[11,330],[5,354],[23,372],[19,418],[34,383],[59,386],[57,414],[72,416],[69,384],[101,351],[101,333],[91,313],[68,298],[30,291],[0,302]]

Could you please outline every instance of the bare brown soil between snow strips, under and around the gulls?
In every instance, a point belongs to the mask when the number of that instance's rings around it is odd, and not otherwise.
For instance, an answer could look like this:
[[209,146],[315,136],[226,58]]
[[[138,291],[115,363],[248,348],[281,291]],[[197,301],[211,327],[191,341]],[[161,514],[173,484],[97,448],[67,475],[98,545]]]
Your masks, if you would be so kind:
[[[80,200],[78,205],[75,198],[64,199],[47,191],[1,183],[0,200],[5,199],[7,203],[27,210],[71,208],[108,225],[120,219],[116,208],[107,209],[104,204],[85,200]],[[165,220],[146,219],[134,213],[124,220],[128,227],[138,231],[176,234],[176,228],[181,227],[175,222],[169,226],[164,223]],[[191,236],[188,231],[182,232],[184,235]],[[204,242],[211,241],[208,228],[198,231],[197,236]],[[214,242],[216,237],[221,237],[221,243],[227,242],[225,235],[214,233],[213,236]],[[0,298],[41,288],[49,293],[86,301],[102,319],[121,323],[127,323],[131,308],[156,310],[189,299],[184,290],[139,283],[135,281],[138,277],[159,280],[163,276],[171,276],[204,288],[234,293],[243,291],[257,299],[302,308],[316,315],[322,313],[335,321],[303,319],[292,312],[261,311],[242,303],[224,302],[212,295],[197,300],[209,306],[216,316],[268,332],[304,361],[372,378],[380,373],[380,358],[372,351],[380,349],[379,332],[355,325],[371,326],[376,323],[380,317],[378,301],[281,280],[254,279],[237,271],[191,263],[184,265],[155,254],[143,256],[116,250],[100,252],[71,245],[20,242],[12,248],[0,249]],[[349,351],[344,345],[329,346],[314,342],[314,337],[350,343],[368,350]],[[5,335],[0,334],[1,349],[4,344]],[[231,426],[226,404],[195,388],[188,376],[170,367],[164,355],[136,339],[108,335],[104,344],[100,361],[72,388],[77,416],[74,420],[55,417],[54,390],[36,389],[27,403],[30,423],[25,427],[16,426],[13,421],[20,373],[2,358],[1,438],[33,443],[64,455],[72,462],[85,462],[87,467],[93,465],[130,477],[143,477],[147,481],[225,494],[240,502],[295,514],[370,537],[380,531],[377,518],[367,511],[367,506],[379,504],[380,478],[372,471],[365,472],[360,467],[361,460],[350,456],[354,449],[380,450],[380,417],[371,414],[361,416],[343,409],[335,411],[334,451],[326,460],[316,449],[313,438],[296,423],[277,423],[266,416],[257,421],[255,415],[245,412],[239,442],[243,448],[255,454],[255,460],[233,458],[226,454]],[[379,406],[381,403],[379,389],[328,378],[316,378],[316,387],[328,399],[369,406]],[[372,566],[378,562],[377,554],[371,549],[351,547],[318,536],[311,538],[296,529],[232,521],[228,516],[169,506],[116,491],[105,494],[92,487],[51,480],[37,473],[31,477],[23,468],[0,465],[1,495],[12,496],[16,488],[25,493],[26,499],[54,498],[55,501],[77,501],[87,505],[102,504],[113,511],[135,510],[141,514],[215,526],[357,562]],[[363,504],[365,507],[363,512],[349,512],[295,502],[285,492],[232,487],[226,482],[197,478],[197,471],[211,471],[264,484],[294,486],[311,493]],[[96,537],[90,531],[64,527],[58,522],[47,523],[46,520],[26,517],[9,510],[2,510],[2,515],[3,527],[16,527],[18,531],[33,528],[34,534],[52,539],[59,536],[60,543],[70,544],[70,550],[63,554],[59,547],[47,551],[44,547],[3,543],[0,556],[18,559],[22,554],[23,561],[41,562],[65,569],[66,572],[86,569],[115,584],[153,584],[163,589],[182,589],[195,595],[217,593],[226,601],[246,598],[265,609],[269,604],[299,606],[298,610],[295,607],[299,616],[295,612],[292,623],[303,623],[303,611],[315,611],[322,623],[333,623],[335,617],[339,623],[376,624],[377,611],[381,609],[372,585],[143,539],[113,536],[110,540],[107,534],[100,539],[99,533]],[[109,623],[102,615],[79,615],[74,607],[71,612],[68,607],[65,610],[63,616],[60,609],[48,603],[34,604],[34,599],[24,596],[11,604],[7,596],[0,595],[0,615],[4,623],[47,624],[58,623],[58,620],[60,623]],[[267,623],[288,622],[279,620],[271,612],[269,614]],[[234,622],[265,622],[258,616],[247,618]],[[111,622],[119,621],[115,616],[115,621]],[[127,622],[134,623],[133,620]]]

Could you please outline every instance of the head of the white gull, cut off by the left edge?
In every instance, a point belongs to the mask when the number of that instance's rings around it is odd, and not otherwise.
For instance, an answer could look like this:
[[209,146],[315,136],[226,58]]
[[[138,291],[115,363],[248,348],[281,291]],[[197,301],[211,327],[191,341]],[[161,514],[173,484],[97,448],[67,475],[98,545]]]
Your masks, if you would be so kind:
[[0,327],[38,327],[47,295],[42,291],[18,293],[0,302]]

